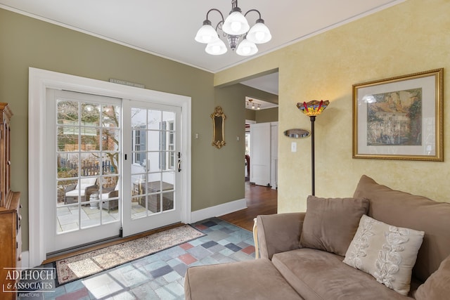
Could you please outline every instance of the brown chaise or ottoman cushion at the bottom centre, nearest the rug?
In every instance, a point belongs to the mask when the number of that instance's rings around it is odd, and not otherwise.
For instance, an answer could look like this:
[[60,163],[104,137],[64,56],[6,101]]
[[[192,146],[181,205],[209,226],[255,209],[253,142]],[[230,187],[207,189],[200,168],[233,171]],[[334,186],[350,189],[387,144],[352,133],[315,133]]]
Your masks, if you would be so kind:
[[185,299],[303,299],[269,259],[188,268]]

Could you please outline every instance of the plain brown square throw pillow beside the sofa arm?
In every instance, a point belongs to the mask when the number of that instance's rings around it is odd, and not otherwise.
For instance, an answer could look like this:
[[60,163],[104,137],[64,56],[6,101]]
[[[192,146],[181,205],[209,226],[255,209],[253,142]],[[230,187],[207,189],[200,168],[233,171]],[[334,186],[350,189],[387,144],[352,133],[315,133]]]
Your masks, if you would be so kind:
[[362,198],[309,196],[300,235],[300,247],[345,256],[358,229],[359,219],[367,214],[368,205],[369,200]]

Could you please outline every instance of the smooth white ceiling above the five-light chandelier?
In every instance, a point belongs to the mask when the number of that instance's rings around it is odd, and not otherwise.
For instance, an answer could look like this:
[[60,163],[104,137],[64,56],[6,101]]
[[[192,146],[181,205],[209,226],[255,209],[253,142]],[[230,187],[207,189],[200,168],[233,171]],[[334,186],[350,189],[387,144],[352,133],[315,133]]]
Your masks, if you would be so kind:
[[[243,13],[257,9],[271,30],[271,41],[258,46],[260,56],[402,1],[406,0],[240,0],[238,6]],[[194,41],[207,11],[218,8],[226,18],[231,0],[0,0],[0,8],[213,73],[255,57],[231,51],[210,56],[205,44]],[[219,18],[210,13],[214,26]],[[256,13],[248,14],[250,25],[256,19]]]

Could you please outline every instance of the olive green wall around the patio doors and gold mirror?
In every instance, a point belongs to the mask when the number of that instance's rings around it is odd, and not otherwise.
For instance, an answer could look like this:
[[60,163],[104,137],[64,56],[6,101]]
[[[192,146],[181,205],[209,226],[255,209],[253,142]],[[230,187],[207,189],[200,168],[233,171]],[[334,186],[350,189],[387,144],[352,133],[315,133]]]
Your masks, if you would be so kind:
[[[144,84],[146,89],[191,96],[192,210],[243,199],[244,174],[240,165],[244,156],[245,89],[230,86],[217,91],[210,72],[0,9],[0,101],[10,103],[14,114],[11,188],[21,192],[24,251],[28,249],[30,213],[29,67],[103,81],[122,79]],[[223,105],[228,117],[227,145],[221,150],[211,145],[210,115],[216,105]]]

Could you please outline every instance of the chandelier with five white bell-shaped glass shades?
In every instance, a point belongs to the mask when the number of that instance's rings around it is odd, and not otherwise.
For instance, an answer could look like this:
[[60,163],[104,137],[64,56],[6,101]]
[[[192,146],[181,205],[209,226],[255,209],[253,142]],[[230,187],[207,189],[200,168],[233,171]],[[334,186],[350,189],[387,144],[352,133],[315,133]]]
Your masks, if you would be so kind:
[[[212,22],[208,19],[208,15],[212,11],[217,11],[221,16],[221,20],[217,23],[215,29],[212,27]],[[245,18],[251,12],[256,12],[259,15],[252,28],[250,28]],[[231,12],[226,19],[224,19],[224,15],[218,9],[210,9],[206,13],[206,20],[203,21],[203,26],[200,27],[200,30],[195,35],[195,41],[207,44],[205,51],[213,56],[219,56],[227,51],[226,45],[220,39],[217,30],[223,32],[223,36],[228,40],[231,50],[236,50],[236,53],[240,56],[252,56],[258,52],[256,44],[264,44],[272,38],[269,28],[264,25],[261,13],[256,9],[250,9],[243,15],[238,7],[238,0],[231,0]],[[243,41],[238,44],[241,37],[243,37]]]

